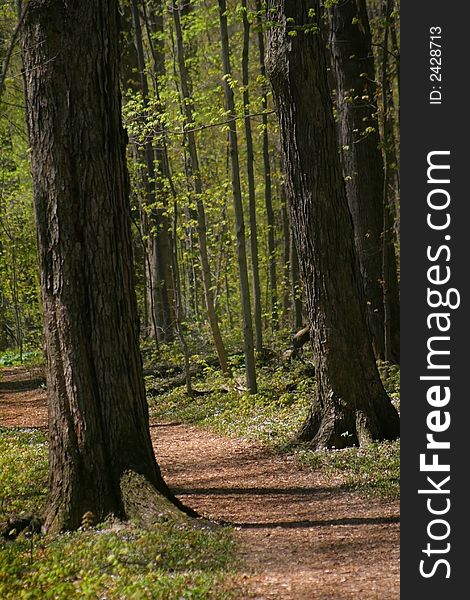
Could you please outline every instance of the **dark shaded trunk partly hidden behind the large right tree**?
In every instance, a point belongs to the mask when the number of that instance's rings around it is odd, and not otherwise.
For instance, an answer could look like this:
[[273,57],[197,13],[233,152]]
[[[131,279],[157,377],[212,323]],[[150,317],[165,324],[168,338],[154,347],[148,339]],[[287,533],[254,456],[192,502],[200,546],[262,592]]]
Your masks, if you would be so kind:
[[[364,0],[335,4],[330,13],[330,48],[336,84],[338,133],[349,210],[367,302],[367,319],[376,358],[385,358],[382,246],[389,258],[387,289],[399,313],[396,259],[391,236],[384,230],[384,164],[375,101],[372,40]],[[395,282],[390,282],[391,278]],[[390,358],[399,361],[400,334],[394,328]]]

